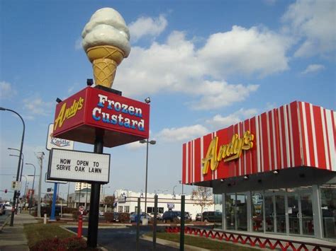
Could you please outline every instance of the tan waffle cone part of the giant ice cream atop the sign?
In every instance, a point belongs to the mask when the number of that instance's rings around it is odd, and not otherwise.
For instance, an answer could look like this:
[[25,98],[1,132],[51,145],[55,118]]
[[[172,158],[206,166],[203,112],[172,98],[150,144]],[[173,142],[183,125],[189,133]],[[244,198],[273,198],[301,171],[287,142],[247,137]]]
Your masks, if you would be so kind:
[[104,45],[87,49],[86,55],[92,63],[96,85],[111,88],[117,66],[123,61],[123,51],[114,46]]

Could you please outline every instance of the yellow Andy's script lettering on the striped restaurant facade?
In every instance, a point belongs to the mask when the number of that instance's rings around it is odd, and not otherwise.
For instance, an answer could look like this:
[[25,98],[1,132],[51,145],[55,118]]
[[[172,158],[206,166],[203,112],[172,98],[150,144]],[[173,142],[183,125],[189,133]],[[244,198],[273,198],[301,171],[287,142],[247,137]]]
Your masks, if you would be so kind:
[[206,157],[202,159],[203,175],[208,173],[209,165],[211,170],[214,171],[217,169],[220,160],[226,162],[239,158],[242,154],[242,150],[249,150],[253,147],[253,139],[254,135],[251,134],[250,131],[246,131],[243,138],[239,138],[238,134],[233,134],[231,142],[220,146],[217,154],[218,136],[215,136],[209,144]]

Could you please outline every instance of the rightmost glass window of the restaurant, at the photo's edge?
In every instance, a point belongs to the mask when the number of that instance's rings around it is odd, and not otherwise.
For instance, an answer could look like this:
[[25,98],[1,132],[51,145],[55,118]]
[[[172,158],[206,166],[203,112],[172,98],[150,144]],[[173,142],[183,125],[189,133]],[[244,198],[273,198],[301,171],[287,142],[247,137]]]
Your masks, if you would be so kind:
[[320,187],[323,237],[336,238],[336,185]]

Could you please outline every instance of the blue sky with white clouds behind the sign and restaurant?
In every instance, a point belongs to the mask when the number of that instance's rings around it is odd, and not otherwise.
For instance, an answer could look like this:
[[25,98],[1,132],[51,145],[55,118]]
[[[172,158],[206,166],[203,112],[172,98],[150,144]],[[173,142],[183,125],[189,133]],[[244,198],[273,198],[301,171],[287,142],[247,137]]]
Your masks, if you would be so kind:
[[[272,107],[301,100],[335,110],[335,1],[1,1],[0,106],[26,122],[25,163],[38,166],[55,99],[92,78],[80,46],[91,15],[115,8],[128,25],[131,52],[113,88],[150,96],[148,192],[181,192],[181,146]],[[0,112],[0,190],[16,174],[22,123]],[[74,148],[93,151],[75,143]],[[145,191],[145,144],[111,153],[106,193]],[[43,173],[47,170],[47,158]],[[33,173],[26,166],[23,174]],[[24,179],[23,179],[24,180]],[[28,177],[32,184],[32,179]],[[50,184],[43,184],[43,192]],[[71,184],[73,190],[74,184]],[[190,192],[192,187],[185,187]],[[61,186],[67,192],[67,185]],[[62,195],[62,194],[61,194]],[[0,192],[0,197],[6,194]]]

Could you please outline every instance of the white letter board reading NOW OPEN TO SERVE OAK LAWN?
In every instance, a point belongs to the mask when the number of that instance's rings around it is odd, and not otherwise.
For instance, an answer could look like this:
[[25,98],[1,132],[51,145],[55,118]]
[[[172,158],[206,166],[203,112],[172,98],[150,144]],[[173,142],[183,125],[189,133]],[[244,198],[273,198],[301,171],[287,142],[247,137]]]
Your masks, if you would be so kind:
[[108,183],[110,154],[52,149],[47,180]]

